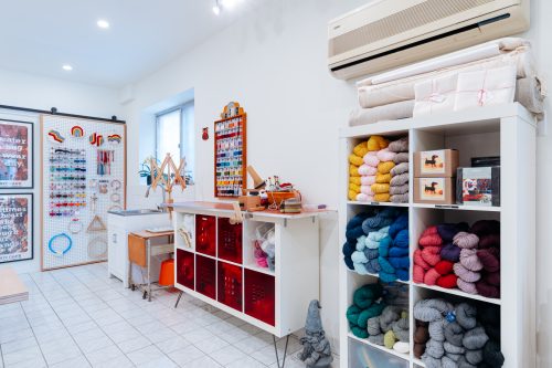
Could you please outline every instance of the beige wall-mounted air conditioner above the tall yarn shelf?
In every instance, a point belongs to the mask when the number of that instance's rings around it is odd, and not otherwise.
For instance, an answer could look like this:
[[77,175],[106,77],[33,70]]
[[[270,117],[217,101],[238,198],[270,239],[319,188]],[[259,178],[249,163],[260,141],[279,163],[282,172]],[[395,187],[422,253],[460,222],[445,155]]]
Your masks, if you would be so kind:
[[529,2],[373,1],[330,22],[330,71],[348,80],[523,32]]

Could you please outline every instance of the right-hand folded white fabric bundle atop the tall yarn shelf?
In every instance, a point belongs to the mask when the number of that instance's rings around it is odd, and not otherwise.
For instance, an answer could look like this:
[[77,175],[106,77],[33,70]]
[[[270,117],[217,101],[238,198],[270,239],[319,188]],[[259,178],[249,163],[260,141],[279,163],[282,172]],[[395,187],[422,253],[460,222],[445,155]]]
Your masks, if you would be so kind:
[[514,94],[516,69],[513,66],[460,73],[455,111],[513,103]]

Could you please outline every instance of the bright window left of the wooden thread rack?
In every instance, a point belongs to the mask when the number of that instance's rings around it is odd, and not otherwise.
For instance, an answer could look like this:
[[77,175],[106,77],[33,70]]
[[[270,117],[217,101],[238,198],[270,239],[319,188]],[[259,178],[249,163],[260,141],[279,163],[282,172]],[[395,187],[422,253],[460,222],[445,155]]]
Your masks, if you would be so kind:
[[192,181],[195,162],[193,107],[192,101],[156,116],[156,157],[162,161],[167,154],[170,154],[177,166],[180,158],[185,158],[188,183]]

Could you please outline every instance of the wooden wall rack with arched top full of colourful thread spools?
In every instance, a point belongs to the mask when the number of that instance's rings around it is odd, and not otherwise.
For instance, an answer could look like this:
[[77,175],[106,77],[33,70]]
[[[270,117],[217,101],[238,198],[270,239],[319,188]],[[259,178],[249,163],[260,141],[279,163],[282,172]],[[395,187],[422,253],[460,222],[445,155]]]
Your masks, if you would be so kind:
[[[247,114],[238,103],[224,106],[221,119],[214,122],[214,197],[236,199],[247,185]],[[227,162],[233,158],[234,162]],[[238,164],[241,161],[241,164]],[[227,166],[224,166],[226,165]],[[235,171],[223,175],[224,168]],[[226,179],[226,180],[225,180]]]

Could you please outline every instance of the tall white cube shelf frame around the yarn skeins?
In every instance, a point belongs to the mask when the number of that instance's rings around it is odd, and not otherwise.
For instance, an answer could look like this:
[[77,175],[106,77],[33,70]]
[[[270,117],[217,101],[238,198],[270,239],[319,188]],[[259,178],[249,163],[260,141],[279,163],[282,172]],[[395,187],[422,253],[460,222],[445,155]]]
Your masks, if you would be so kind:
[[[403,204],[362,203],[347,200],[349,160],[352,148],[372,135],[389,138],[410,138],[410,201]],[[401,355],[384,347],[373,347],[354,337],[346,318],[354,291],[378,282],[376,275],[361,276],[350,271],[340,253],[340,361],[341,367],[355,368],[359,351],[380,359],[382,350],[389,357],[385,367],[423,367],[414,357],[414,304],[427,297],[450,298],[491,304],[500,308],[501,350],[505,367],[535,366],[535,138],[537,119],[520,104],[487,106],[465,112],[435,114],[425,117],[372,125],[347,127],[340,130],[340,251],[346,242],[346,228],[357,213],[372,206],[396,206],[408,211],[410,227],[410,319],[411,353]],[[500,207],[435,206],[414,203],[413,155],[415,151],[455,148],[459,150],[460,166],[469,167],[470,157],[500,156]],[[420,285],[412,282],[413,253],[417,240],[429,225],[443,222],[478,220],[500,221],[500,298],[467,294],[460,290]],[[360,350],[359,350],[360,349]],[[378,353],[374,353],[378,351]],[[372,358],[372,357],[369,357]],[[368,359],[368,358],[367,358]],[[388,359],[386,357],[384,359]],[[365,366],[365,364],[364,364]]]

